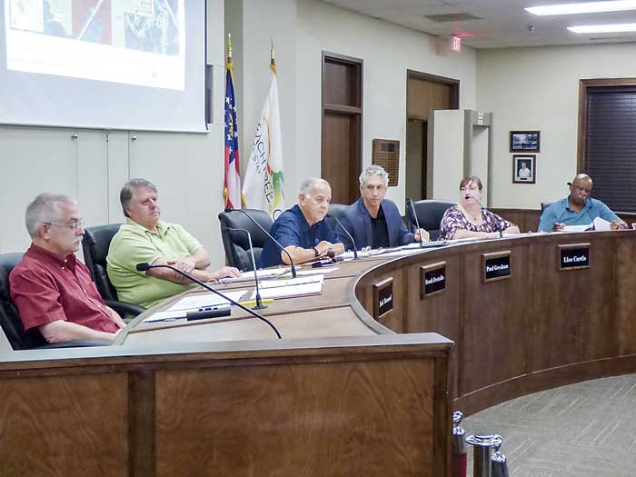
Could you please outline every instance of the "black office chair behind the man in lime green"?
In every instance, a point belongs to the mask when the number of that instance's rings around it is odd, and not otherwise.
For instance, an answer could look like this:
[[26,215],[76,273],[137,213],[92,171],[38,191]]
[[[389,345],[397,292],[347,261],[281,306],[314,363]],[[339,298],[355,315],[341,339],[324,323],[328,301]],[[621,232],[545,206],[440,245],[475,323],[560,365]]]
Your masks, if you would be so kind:
[[108,247],[111,244],[111,240],[113,240],[114,234],[119,230],[119,225],[95,225],[84,229],[84,238],[82,239],[84,262],[91,272],[97,291],[102,295],[104,303],[122,316],[125,314],[136,316],[139,313],[144,313],[145,308],[134,303],[120,302],[117,297],[117,291],[114,289],[113,283],[108,279],[108,273],[106,272]]

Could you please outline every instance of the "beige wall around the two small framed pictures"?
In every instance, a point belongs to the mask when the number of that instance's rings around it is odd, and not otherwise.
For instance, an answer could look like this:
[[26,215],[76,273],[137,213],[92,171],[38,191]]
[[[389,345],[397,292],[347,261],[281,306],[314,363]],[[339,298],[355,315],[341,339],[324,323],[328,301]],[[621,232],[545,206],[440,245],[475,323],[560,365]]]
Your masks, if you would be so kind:
[[[481,50],[477,107],[492,111],[492,206],[538,209],[576,174],[579,80],[636,76],[634,45]],[[511,130],[540,130],[537,184],[512,184]]]

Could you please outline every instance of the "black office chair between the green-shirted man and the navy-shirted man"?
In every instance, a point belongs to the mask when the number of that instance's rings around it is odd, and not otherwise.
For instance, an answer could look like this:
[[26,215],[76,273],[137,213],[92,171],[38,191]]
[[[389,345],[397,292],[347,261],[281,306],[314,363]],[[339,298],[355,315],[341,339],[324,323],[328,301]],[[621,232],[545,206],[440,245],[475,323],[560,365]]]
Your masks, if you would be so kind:
[[[272,229],[272,218],[266,212],[258,209],[244,209],[247,214],[261,224],[263,229],[269,232]],[[229,230],[245,229],[252,235],[252,246],[254,249],[254,260],[256,268],[260,268],[261,253],[267,243],[267,235],[239,211],[222,212],[219,214],[221,223],[221,238],[225,249],[225,262],[243,272],[253,270],[252,257],[250,256],[250,243],[247,234]]]

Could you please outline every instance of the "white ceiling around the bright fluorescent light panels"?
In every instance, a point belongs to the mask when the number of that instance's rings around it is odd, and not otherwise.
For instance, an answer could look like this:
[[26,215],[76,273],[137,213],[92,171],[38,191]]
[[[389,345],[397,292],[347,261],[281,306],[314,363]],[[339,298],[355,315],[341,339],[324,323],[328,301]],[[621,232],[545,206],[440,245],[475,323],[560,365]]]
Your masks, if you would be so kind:
[[[475,48],[590,45],[634,42],[636,34],[577,35],[573,25],[636,23],[636,10],[589,15],[537,16],[523,8],[581,3],[583,0],[323,0],[431,35],[463,35]],[[425,15],[469,14],[480,19],[438,23]],[[531,32],[530,25],[533,26]]]

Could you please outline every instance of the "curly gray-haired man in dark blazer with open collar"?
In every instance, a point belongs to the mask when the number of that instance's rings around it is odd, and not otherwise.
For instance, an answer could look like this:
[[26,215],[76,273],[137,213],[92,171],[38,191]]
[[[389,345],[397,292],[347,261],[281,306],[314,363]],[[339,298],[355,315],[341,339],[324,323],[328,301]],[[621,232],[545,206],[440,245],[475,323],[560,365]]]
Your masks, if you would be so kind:
[[[363,247],[387,248],[429,240],[429,233],[420,229],[413,234],[402,222],[397,205],[384,195],[389,186],[389,174],[380,165],[370,165],[360,174],[362,197],[343,212],[341,222],[355,240],[358,249]],[[347,250],[353,250],[351,239],[341,227],[338,237]]]

